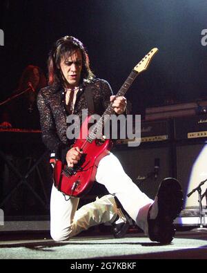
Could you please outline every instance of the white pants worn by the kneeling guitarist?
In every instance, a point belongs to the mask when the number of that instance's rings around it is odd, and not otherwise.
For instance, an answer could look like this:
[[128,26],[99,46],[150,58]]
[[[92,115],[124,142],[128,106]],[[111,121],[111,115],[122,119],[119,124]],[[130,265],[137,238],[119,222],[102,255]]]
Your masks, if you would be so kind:
[[[110,194],[117,196],[130,217],[148,234],[147,215],[153,200],[132,182],[112,153],[100,160],[96,180],[104,185]],[[52,238],[55,241],[62,241],[93,225],[112,223],[117,218],[118,211],[115,199],[110,194],[97,198],[95,202],[77,210],[79,198],[67,200],[67,196],[63,196],[53,185],[50,200]]]

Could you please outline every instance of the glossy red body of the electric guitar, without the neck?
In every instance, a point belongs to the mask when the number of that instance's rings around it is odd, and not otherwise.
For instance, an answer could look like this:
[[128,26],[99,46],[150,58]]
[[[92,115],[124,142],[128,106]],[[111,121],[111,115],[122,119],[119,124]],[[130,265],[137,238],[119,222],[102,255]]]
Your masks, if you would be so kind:
[[84,120],[79,138],[73,147],[79,147],[83,153],[81,160],[73,168],[57,160],[54,168],[55,187],[68,196],[81,197],[92,187],[97,173],[97,166],[103,156],[110,153],[112,148],[111,140],[92,140],[88,142],[88,122],[90,116]]

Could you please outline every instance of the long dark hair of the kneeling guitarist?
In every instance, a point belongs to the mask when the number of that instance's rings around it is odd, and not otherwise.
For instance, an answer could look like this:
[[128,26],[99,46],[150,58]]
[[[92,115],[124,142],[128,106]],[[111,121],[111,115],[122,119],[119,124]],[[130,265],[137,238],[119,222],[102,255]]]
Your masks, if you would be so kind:
[[95,75],[90,70],[89,58],[86,48],[81,41],[72,36],[65,36],[57,40],[48,58],[48,84],[59,84],[63,82],[59,64],[62,57],[70,56],[75,50],[80,50],[83,67],[81,70],[81,82],[91,82]]

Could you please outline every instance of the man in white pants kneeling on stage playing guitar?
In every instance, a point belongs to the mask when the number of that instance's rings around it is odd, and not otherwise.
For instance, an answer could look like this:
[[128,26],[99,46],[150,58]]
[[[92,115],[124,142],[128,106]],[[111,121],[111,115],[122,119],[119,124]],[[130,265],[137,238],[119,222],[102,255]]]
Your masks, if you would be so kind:
[[[99,155],[91,169],[96,182],[104,185],[110,194],[77,210],[79,195],[75,196],[75,191],[79,189],[81,179],[72,183],[70,194],[63,190],[63,184],[67,187],[72,176],[81,173],[83,168],[76,166],[83,154],[87,158],[87,152],[83,149],[85,142],[79,147],[67,138],[67,117],[77,115],[81,120],[83,109],[90,113],[87,88],[90,88],[94,104],[93,113],[99,115],[109,104],[116,115],[124,113],[126,98],[113,96],[108,82],[93,75],[86,49],[75,37],[57,40],[50,51],[48,75],[49,86],[41,89],[37,104],[43,142],[55,154],[57,166],[50,200],[52,238],[67,240],[93,225],[106,222],[112,223],[115,237],[120,238],[126,233],[130,216],[152,241],[170,243],[175,235],[172,222],[182,205],[179,182],[173,178],[162,181],[155,201],[151,200],[127,176],[109,149]],[[90,141],[87,145],[90,147]]]

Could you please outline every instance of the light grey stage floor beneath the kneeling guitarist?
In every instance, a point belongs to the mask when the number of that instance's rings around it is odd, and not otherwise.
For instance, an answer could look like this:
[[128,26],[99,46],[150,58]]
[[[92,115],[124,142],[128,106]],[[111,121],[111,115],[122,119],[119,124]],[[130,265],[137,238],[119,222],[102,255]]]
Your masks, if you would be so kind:
[[[151,242],[143,233],[113,238],[87,232],[56,243],[48,232],[1,234],[0,259],[206,259],[207,232],[176,232],[170,245]],[[70,261],[70,262],[71,262]],[[86,262],[86,261],[85,261]]]

